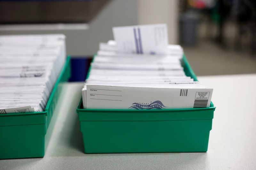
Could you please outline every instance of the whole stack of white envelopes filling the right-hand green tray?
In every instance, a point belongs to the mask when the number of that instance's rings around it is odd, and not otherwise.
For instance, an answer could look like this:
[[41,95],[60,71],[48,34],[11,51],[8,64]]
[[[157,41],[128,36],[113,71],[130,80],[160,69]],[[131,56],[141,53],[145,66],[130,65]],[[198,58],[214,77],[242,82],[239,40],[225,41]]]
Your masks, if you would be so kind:
[[87,109],[209,107],[212,88],[185,75],[183,49],[168,45],[166,25],[113,28],[100,43],[82,89]]

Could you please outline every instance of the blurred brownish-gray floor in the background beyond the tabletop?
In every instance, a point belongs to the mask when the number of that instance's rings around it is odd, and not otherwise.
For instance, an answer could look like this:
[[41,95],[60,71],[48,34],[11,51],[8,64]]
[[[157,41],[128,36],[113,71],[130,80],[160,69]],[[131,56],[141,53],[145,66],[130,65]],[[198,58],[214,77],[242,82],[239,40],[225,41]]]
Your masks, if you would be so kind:
[[[211,35],[215,35],[214,32],[213,29]],[[256,55],[250,54],[250,37],[244,37],[242,49],[237,51],[234,46],[235,33],[236,27],[229,23],[225,28],[226,48],[221,48],[207,35],[206,24],[200,24],[197,45],[183,47],[197,76],[256,73]]]

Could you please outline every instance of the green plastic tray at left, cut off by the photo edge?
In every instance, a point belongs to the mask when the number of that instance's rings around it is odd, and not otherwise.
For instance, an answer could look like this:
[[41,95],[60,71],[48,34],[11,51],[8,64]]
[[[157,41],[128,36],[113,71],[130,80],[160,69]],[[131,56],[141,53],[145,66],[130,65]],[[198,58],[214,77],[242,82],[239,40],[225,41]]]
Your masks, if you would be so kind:
[[0,115],[0,159],[44,157],[52,132],[48,127],[61,92],[59,84],[70,76],[68,56],[44,112]]

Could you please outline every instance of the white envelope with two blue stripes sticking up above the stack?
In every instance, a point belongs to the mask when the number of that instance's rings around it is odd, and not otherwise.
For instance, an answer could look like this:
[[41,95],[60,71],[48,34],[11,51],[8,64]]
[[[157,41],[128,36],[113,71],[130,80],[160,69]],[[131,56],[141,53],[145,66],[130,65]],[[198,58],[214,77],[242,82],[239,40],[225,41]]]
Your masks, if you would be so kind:
[[167,54],[166,24],[113,27],[119,52],[134,54]]

